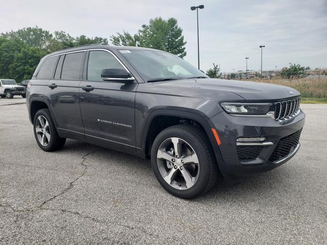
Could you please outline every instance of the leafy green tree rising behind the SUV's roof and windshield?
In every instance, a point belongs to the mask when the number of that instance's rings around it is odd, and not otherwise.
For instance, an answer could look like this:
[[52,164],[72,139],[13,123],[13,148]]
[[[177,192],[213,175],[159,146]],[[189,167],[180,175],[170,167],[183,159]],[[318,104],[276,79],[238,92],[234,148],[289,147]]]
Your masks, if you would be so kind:
[[114,45],[150,47],[167,51],[179,57],[186,55],[183,30],[178,26],[175,18],[167,20],[161,17],[150,19],[149,24],[143,24],[137,34],[128,32],[111,35],[110,41]]

